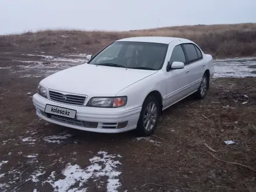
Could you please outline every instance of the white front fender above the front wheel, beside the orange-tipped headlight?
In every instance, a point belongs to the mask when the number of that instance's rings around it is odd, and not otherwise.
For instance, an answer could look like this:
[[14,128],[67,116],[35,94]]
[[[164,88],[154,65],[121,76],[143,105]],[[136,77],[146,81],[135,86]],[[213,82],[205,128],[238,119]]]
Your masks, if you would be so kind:
[[126,110],[137,108],[143,105],[143,102],[151,91],[158,91],[162,97],[166,94],[166,86],[162,70],[146,77],[131,86],[119,91],[116,96],[127,96]]

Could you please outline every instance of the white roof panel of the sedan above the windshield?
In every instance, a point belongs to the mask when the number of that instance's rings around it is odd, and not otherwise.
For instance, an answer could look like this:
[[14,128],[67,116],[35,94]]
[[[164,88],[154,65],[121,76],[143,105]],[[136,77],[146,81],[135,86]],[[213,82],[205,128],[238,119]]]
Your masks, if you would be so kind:
[[117,41],[132,41],[132,42],[157,42],[162,44],[169,44],[172,41],[179,40],[183,43],[192,42],[187,40],[186,38],[178,38],[178,37],[156,37],[156,36],[144,36],[144,37],[129,37],[123,38]]

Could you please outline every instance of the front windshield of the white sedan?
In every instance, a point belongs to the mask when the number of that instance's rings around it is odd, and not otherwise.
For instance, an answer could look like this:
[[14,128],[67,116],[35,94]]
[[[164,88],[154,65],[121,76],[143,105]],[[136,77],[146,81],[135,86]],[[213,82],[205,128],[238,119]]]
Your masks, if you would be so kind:
[[168,44],[116,41],[99,52],[89,64],[131,69],[159,70]]

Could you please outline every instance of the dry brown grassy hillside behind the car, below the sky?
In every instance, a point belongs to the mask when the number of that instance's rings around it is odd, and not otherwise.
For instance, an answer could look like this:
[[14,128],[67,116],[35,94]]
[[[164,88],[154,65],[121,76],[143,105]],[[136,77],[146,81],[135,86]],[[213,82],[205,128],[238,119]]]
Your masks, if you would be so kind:
[[45,30],[0,36],[0,51],[89,52],[125,37],[189,38],[213,56],[256,55],[256,23],[162,27],[132,31]]

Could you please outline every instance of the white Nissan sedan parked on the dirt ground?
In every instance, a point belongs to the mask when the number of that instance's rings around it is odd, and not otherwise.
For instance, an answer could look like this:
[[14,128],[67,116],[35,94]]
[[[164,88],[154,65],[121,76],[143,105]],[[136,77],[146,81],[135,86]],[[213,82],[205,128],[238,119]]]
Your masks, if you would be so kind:
[[125,38],[87,59],[40,81],[33,104],[41,119],[150,136],[163,110],[191,94],[204,98],[214,76],[212,56],[184,38]]

